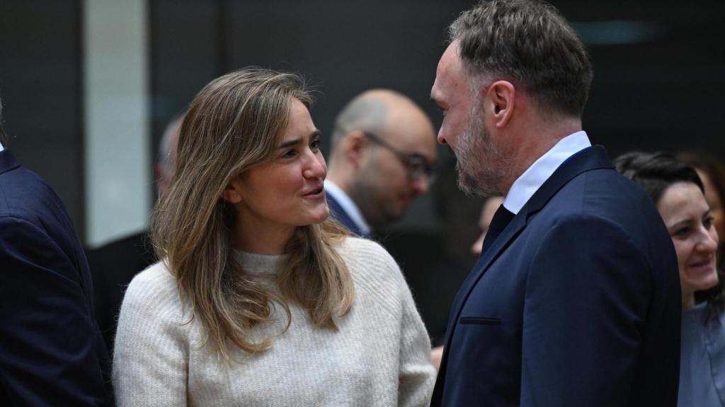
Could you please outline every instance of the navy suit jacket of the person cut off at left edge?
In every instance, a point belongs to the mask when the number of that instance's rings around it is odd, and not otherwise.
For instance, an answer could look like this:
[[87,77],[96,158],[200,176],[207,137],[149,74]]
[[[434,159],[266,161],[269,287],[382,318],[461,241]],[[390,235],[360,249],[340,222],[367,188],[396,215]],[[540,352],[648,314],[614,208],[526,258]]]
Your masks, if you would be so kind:
[[0,405],[112,403],[86,256],[49,185],[0,152]]

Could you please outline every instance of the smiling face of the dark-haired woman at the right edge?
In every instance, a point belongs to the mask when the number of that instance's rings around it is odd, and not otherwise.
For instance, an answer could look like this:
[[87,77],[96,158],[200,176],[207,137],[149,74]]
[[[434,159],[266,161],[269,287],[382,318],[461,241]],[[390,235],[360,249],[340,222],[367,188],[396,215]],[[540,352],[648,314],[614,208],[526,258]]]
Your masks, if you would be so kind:
[[670,185],[657,209],[677,253],[683,301],[695,291],[713,288],[718,283],[715,269],[718,234],[700,188],[692,182]]

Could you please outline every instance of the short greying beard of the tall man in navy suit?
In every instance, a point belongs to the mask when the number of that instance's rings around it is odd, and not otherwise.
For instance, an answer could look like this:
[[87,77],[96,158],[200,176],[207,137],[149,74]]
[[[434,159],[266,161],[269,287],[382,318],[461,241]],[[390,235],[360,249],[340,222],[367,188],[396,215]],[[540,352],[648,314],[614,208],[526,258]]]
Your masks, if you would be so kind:
[[504,195],[500,185],[512,163],[486,131],[481,112],[469,113],[468,126],[451,148],[457,159],[460,190],[473,196]]

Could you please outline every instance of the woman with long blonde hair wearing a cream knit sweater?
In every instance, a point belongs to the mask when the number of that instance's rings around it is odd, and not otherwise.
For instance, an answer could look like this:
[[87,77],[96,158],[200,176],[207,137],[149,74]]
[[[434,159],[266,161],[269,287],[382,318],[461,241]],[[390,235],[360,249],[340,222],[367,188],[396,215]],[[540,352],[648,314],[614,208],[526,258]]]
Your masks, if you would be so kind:
[[120,406],[426,406],[430,344],[397,264],[328,220],[302,80],[246,69],[196,95],[154,210],[159,263],[118,322]]

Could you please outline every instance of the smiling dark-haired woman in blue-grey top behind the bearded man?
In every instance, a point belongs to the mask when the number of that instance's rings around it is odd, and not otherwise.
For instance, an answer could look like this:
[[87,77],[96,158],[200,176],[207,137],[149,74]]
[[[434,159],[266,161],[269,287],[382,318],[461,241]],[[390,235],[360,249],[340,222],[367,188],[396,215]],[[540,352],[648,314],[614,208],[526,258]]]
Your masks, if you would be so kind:
[[[716,270],[718,234],[692,167],[662,153],[618,157],[619,172],[652,198],[672,236],[682,287],[678,406],[725,406],[724,298]],[[703,294],[702,302],[696,294]]]

